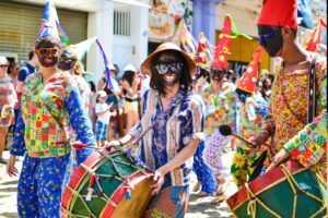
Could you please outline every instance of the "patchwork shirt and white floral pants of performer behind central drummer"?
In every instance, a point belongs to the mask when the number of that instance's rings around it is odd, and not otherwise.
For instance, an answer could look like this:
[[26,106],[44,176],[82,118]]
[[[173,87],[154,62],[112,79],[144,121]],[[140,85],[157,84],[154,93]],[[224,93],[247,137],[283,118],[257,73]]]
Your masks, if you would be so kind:
[[213,93],[212,85],[208,85],[201,90],[201,95],[207,107],[203,159],[213,171],[218,185],[219,180],[229,174],[222,162],[222,154],[232,140],[232,136],[223,136],[219,126],[227,124],[237,133],[237,96],[232,83],[224,83],[218,94]]

